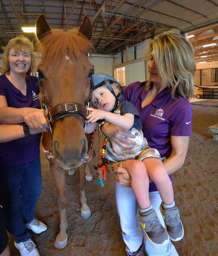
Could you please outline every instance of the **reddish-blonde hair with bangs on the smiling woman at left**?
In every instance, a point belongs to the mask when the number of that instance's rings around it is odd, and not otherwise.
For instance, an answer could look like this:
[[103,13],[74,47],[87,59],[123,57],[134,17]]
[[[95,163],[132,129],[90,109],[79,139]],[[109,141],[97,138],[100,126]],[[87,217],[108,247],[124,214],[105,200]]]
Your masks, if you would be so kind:
[[14,51],[26,52],[31,55],[31,65],[30,69],[26,73],[26,79],[28,79],[31,73],[34,73],[36,71],[36,53],[34,52],[34,45],[33,42],[30,42],[30,40],[25,36],[19,36],[11,39],[6,46],[2,47],[2,49],[4,50],[4,57],[2,60],[1,68],[2,74],[10,72],[10,63],[8,60],[8,55],[11,49],[13,49]]

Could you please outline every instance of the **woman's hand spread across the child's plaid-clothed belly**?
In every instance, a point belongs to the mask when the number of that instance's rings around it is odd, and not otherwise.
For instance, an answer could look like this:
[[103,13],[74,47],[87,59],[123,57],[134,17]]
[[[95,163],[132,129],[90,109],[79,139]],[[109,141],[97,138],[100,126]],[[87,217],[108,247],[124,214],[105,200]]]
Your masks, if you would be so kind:
[[102,126],[101,130],[109,138],[112,148],[117,154],[119,154],[119,152],[116,149],[116,144],[127,149],[130,149],[132,145],[136,144],[136,142],[125,138],[135,138],[135,135],[130,134],[129,130],[122,130],[119,127],[107,122]]

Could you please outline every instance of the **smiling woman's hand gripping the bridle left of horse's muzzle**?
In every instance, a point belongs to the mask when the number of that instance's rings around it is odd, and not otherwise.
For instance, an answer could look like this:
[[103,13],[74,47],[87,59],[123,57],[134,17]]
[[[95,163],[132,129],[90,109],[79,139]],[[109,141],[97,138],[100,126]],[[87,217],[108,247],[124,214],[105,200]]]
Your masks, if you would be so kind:
[[[48,132],[48,123],[46,120],[46,112],[43,109],[35,109],[34,112],[24,116],[24,122],[34,133]],[[31,133],[31,130],[30,130]]]

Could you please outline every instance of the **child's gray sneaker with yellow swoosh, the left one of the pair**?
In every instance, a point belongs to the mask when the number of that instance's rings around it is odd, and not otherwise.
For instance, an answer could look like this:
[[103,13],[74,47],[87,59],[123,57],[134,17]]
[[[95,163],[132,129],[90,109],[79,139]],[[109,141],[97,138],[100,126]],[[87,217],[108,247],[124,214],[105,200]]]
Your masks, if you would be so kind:
[[169,236],[166,229],[161,225],[154,209],[148,211],[146,216],[142,216],[139,213],[139,222],[142,226],[142,230],[152,244],[165,245],[169,242]]

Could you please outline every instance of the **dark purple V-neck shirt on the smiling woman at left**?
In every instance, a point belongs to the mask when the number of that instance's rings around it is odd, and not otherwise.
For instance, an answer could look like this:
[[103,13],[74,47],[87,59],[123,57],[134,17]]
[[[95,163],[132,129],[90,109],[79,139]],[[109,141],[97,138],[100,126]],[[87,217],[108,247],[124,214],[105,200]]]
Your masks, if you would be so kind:
[[[38,78],[36,76],[30,76],[26,80],[25,96],[3,74],[0,76],[0,95],[6,98],[8,107],[40,109],[37,82]],[[41,135],[41,133],[38,133],[29,137],[0,143],[1,167],[16,166],[36,160],[40,154]]]

